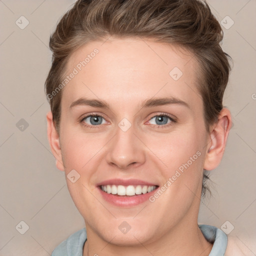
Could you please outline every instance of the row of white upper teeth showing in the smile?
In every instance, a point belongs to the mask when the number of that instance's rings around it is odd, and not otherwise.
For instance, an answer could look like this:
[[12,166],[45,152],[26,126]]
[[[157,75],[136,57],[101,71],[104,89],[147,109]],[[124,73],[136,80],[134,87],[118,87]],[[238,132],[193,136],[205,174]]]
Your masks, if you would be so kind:
[[147,185],[101,185],[101,190],[107,192],[108,194],[118,194],[118,195],[135,195],[135,194],[145,194],[151,192],[156,188],[156,186]]

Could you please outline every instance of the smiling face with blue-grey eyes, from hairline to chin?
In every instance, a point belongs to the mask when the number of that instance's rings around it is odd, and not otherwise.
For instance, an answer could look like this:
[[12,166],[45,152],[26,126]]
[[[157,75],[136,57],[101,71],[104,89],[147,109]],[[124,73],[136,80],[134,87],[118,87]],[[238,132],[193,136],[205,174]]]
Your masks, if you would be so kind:
[[87,232],[146,244],[197,221],[209,137],[197,68],[188,51],[146,39],[93,41],[71,55],[59,138]]

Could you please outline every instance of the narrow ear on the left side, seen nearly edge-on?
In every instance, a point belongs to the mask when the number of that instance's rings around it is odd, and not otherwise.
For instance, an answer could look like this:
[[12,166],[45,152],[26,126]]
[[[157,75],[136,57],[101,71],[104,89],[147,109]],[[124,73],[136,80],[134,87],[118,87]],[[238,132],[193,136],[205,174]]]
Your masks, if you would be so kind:
[[50,144],[51,152],[56,159],[56,167],[59,170],[64,170],[64,165],[62,162],[62,154],[61,154],[61,149],[60,149],[60,143],[59,143],[59,135],[58,135],[55,125],[52,121],[51,111],[49,111],[46,114],[46,118],[47,118],[47,137],[48,137],[48,141]]

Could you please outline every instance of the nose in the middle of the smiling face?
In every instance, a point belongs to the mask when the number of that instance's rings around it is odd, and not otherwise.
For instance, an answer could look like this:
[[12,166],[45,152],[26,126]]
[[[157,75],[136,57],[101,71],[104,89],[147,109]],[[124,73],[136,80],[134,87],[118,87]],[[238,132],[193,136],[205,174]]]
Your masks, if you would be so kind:
[[106,161],[120,169],[137,167],[145,162],[145,145],[131,126],[123,131],[117,126],[115,136],[109,141]]

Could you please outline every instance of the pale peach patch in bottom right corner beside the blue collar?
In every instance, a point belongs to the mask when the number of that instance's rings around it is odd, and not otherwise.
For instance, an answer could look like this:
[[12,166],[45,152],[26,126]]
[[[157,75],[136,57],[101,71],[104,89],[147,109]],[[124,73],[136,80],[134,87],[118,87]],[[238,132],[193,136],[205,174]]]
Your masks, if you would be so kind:
[[227,236],[225,256],[254,256],[255,254],[238,238]]

